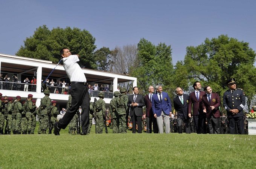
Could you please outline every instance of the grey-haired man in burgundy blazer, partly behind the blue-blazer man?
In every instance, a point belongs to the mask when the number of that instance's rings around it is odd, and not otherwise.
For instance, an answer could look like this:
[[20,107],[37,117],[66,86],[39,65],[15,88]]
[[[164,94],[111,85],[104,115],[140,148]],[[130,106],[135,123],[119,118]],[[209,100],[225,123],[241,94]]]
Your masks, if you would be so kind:
[[154,87],[148,87],[149,94],[144,96],[146,106],[146,122],[147,122],[147,133],[152,133],[152,123],[154,133],[158,133],[157,119],[154,117],[152,112],[152,97],[154,93]]

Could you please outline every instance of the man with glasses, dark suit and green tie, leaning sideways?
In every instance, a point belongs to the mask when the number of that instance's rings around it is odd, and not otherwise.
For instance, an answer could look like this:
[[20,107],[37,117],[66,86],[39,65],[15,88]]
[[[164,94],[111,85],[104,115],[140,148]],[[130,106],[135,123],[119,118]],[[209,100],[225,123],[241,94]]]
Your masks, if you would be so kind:
[[183,94],[183,90],[180,87],[177,87],[175,91],[178,96],[173,99],[173,105],[177,114],[178,133],[182,133],[183,123],[185,123],[186,133],[190,133],[190,120],[187,114],[189,95]]

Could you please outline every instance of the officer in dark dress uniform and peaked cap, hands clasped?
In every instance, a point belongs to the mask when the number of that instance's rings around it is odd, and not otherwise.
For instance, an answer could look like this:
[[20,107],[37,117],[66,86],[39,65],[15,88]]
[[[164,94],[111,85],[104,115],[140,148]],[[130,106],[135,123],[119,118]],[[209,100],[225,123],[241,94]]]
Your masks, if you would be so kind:
[[242,89],[236,88],[235,78],[229,79],[227,85],[229,90],[223,95],[223,106],[229,118],[230,134],[244,134],[245,94]]

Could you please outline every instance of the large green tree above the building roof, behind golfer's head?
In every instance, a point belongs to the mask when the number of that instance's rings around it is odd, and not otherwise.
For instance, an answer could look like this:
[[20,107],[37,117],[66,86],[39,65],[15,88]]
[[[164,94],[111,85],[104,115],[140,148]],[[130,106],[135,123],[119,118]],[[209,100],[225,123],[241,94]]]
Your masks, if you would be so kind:
[[16,55],[50,60],[58,63],[59,50],[67,47],[73,54],[79,54],[79,65],[88,69],[96,69],[93,51],[96,49],[95,38],[87,31],[79,28],[53,28],[49,30],[46,25],[38,27],[33,36],[24,40]]

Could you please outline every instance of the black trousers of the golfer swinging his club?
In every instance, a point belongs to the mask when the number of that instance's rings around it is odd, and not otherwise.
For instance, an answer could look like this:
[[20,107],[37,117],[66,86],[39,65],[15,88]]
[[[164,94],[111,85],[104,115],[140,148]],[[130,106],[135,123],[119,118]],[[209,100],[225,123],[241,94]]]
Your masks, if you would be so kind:
[[87,133],[89,127],[90,108],[88,88],[83,84],[71,84],[70,94],[72,96],[71,106],[69,107],[69,109],[67,109],[67,112],[64,114],[64,116],[58,121],[58,127],[61,129],[65,129],[78,111],[79,106],[81,106],[82,131]]

